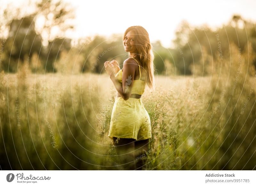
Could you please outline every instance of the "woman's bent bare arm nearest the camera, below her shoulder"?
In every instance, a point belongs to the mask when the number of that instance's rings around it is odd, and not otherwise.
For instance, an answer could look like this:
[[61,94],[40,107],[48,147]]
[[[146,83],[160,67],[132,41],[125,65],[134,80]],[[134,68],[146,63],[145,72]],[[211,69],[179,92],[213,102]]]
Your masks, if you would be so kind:
[[110,74],[110,79],[117,92],[124,100],[129,99],[131,96],[136,65],[137,63],[135,64],[132,58],[128,58],[124,61],[122,84],[116,79],[114,73]]

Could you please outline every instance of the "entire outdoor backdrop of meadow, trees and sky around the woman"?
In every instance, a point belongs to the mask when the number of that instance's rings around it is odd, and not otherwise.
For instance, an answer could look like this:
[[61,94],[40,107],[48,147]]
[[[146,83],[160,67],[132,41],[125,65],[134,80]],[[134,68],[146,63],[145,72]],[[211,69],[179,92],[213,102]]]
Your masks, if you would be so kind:
[[144,169],[255,170],[255,1],[0,4],[2,170],[118,169],[104,62],[122,68],[133,25],[148,31],[156,67]]

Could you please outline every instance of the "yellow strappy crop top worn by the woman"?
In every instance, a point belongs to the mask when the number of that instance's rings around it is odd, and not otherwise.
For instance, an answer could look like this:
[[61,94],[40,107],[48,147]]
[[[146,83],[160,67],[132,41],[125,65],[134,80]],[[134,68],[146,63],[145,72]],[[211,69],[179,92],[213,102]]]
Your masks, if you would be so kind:
[[[133,58],[134,59],[134,58]],[[138,63],[138,61],[135,59],[135,61]],[[138,63],[139,65],[139,71],[140,71],[140,64]],[[123,76],[123,68],[120,69],[118,71],[118,73],[116,73],[116,79],[122,83],[122,76]],[[141,74],[140,74],[141,76]],[[146,82],[143,81],[143,80],[140,80],[140,78],[138,80],[133,80],[133,86],[132,86],[132,92],[131,94],[139,94],[139,95],[142,95],[145,91],[145,88],[146,88]]]

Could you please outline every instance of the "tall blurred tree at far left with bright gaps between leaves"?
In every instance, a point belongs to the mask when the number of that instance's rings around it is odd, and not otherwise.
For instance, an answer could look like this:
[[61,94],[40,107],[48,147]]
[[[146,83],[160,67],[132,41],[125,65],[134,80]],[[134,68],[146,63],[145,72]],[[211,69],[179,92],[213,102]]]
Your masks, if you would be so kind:
[[17,72],[20,65],[31,62],[34,54],[39,56],[40,64],[35,63],[34,56],[33,64],[29,65],[33,72],[36,69],[37,72],[42,69],[55,72],[54,62],[60,57],[60,51],[71,48],[71,39],[65,38],[65,32],[73,28],[74,9],[60,0],[29,2],[28,6],[30,12],[22,11],[21,7],[13,9],[11,4],[0,12],[3,15],[0,41],[6,40],[1,67],[8,72]]

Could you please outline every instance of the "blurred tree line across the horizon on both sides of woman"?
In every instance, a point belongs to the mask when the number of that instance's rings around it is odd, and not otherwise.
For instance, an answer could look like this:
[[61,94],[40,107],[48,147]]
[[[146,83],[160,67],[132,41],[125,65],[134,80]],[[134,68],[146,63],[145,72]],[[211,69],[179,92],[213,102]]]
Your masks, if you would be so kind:
[[[35,12],[28,15],[21,14],[20,9],[12,10],[10,7],[2,13],[1,33],[8,33],[0,35],[1,43],[5,40],[0,68],[5,72],[16,73],[26,62],[29,70],[37,74],[60,72],[59,67],[65,63],[60,58],[63,52],[69,57],[72,53],[68,71],[75,67],[75,74],[101,74],[104,72],[105,61],[115,59],[122,65],[128,57],[123,48],[122,35],[114,34],[109,38],[96,35],[76,41],[66,38],[65,32],[73,29],[71,20],[75,18],[74,9],[69,4],[41,0],[30,6],[36,8]],[[17,15],[13,17],[12,12]],[[218,65],[220,48],[222,57],[227,58],[231,43],[241,48],[242,52],[251,43],[252,50],[255,51],[254,23],[234,15],[227,25],[213,30],[205,25],[191,28],[188,22],[183,21],[176,30],[173,48],[164,48],[160,41],[152,43],[156,74],[211,75],[214,66]],[[253,65],[256,66],[255,59]]]

